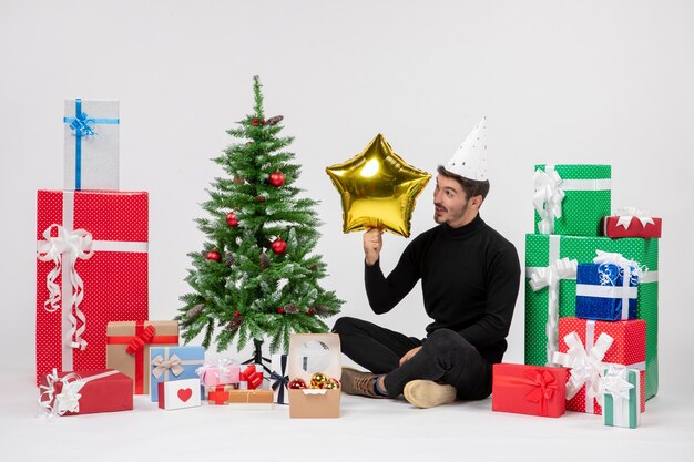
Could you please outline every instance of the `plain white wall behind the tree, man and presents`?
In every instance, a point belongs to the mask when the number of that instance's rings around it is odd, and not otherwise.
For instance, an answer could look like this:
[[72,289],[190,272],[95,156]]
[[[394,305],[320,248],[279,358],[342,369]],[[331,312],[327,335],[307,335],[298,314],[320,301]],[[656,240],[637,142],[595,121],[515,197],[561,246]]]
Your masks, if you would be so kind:
[[[394,312],[368,309],[361,236],[341,233],[325,167],[381,132],[410,164],[435,172],[481,115],[491,193],[482,217],[524,256],[534,163],[609,163],[613,207],[664,220],[660,257],[661,393],[694,379],[692,155],[694,3],[653,1],[0,0],[0,342],[4,369],[33,370],[35,192],[62,187],[63,99],[121,101],[121,187],[149,191],[152,319],[187,290],[193,219],[225,130],[266,113],[322,199],[317,253],[343,314],[421,336],[415,290]],[[412,233],[432,225],[432,186]],[[384,267],[408,240],[387,235]],[[331,324],[331,321],[330,321]],[[506,360],[523,359],[523,294]],[[11,348],[8,349],[8,348]]]

